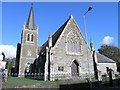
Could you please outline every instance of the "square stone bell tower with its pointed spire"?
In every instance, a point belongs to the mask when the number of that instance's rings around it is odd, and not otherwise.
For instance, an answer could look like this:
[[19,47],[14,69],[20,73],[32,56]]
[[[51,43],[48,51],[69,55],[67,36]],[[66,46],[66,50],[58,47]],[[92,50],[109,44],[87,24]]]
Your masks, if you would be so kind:
[[[27,23],[23,25],[21,34],[21,49],[19,58],[19,70],[18,76],[22,77],[25,75],[26,67],[32,65],[34,60],[37,58],[38,51],[38,27],[34,25],[34,11],[33,4],[31,4]],[[27,72],[30,71],[27,69]]]

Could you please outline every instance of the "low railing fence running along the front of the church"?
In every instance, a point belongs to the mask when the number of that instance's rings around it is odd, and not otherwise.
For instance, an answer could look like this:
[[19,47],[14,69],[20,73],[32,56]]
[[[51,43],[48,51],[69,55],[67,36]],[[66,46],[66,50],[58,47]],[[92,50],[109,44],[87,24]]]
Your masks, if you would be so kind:
[[[18,76],[17,73],[12,73],[12,76]],[[26,77],[31,79],[38,79],[38,80],[50,80],[50,81],[56,81],[56,80],[89,80],[89,73],[66,73],[66,74],[44,74],[44,73],[25,73],[19,75],[19,77]],[[94,74],[91,73],[91,79],[94,79]]]

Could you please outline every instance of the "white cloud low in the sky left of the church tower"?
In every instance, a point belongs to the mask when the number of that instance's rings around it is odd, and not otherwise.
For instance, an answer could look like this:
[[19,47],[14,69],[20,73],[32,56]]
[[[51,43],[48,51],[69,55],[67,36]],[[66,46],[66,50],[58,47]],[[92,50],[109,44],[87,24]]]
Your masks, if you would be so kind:
[[4,52],[6,58],[16,57],[16,47],[13,45],[0,45],[0,53]]

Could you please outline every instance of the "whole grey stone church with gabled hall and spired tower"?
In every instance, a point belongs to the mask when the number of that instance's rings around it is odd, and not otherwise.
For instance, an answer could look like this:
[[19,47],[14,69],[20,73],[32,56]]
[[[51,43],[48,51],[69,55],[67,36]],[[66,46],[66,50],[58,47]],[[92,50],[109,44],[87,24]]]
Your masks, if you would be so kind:
[[32,5],[22,28],[21,43],[17,45],[15,72],[18,77],[30,74],[45,81],[92,78],[95,74],[93,50],[93,43],[89,47],[72,15],[38,46],[38,27],[34,25]]

